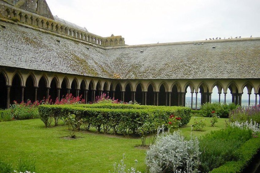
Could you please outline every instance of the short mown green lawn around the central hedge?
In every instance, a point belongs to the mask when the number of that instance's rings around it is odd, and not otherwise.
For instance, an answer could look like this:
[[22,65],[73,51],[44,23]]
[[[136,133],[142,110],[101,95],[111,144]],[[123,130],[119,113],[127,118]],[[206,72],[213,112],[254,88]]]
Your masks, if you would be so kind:
[[[184,135],[190,135],[191,122],[182,127]],[[192,132],[201,136],[211,130],[225,127],[220,118],[216,127],[208,126],[205,131]],[[45,128],[40,119],[0,122],[0,160],[17,165],[19,158],[35,158],[36,172],[91,172],[113,171],[113,164],[122,159],[125,153],[127,168],[135,165],[137,170],[145,172],[145,149],[136,148],[141,144],[138,138],[104,135],[82,131],[77,139],[66,139],[67,126]],[[148,139],[147,139],[148,140]]]

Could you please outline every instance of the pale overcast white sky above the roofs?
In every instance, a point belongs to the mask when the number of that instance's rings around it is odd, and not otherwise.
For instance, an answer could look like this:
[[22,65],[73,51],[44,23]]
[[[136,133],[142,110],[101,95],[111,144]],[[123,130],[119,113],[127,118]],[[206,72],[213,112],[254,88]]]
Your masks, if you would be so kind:
[[46,0],[53,15],[128,45],[260,36],[260,0]]

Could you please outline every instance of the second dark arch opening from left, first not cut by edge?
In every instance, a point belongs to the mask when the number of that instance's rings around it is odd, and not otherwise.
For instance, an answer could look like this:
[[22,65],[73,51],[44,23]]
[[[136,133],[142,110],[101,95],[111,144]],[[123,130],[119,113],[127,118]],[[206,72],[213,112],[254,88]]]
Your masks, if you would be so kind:
[[22,101],[22,87],[21,87],[21,79],[18,74],[15,74],[12,81],[12,87],[10,89],[10,103],[13,101],[17,101],[17,103],[21,103]]

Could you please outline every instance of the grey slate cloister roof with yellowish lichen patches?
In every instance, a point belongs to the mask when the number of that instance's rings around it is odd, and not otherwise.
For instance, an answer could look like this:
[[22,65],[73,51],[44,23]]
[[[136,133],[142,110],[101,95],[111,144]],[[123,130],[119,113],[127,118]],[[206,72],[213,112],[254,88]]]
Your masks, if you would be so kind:
[[0,26],[0,67],[120,79],[260,78],[260,38],[104,49],[17,24],[0,25],[6,26]]

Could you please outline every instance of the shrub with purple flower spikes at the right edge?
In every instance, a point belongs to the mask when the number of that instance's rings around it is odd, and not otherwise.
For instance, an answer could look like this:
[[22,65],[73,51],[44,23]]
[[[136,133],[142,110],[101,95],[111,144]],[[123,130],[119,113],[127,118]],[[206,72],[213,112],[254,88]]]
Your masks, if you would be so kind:
[[248,106],[248,107],[238,107],[236,110],[233,110],[229,114],[230,122],[246,122],[252,121],[260,123],[260,105]]

